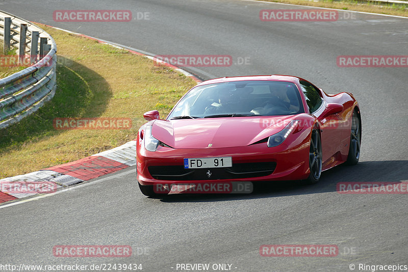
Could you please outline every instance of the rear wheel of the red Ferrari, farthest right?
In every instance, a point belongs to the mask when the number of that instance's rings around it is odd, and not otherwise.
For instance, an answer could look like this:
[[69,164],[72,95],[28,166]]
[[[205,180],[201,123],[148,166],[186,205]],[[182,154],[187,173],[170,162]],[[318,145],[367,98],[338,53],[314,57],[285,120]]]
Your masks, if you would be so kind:
[[359,162],[360,145],[361,145],[361,120],[358,111],[354,109],[353,115],[351,116],[350,144],[346,161],[348,165],[354,165]]

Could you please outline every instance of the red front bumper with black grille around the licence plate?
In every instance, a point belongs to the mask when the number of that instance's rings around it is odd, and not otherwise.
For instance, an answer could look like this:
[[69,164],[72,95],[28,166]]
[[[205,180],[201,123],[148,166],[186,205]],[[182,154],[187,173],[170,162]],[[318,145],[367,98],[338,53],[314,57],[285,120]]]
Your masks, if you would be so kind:
[[[267,147],[266,143],[218,149],[159,146],[155,152],[147,151],[143,141],[137,142],[137,179],[141,185],[302,180],[309,175],[308,137],[276,147]],[[232,168],[184,169],[184,158],[230,156]]]

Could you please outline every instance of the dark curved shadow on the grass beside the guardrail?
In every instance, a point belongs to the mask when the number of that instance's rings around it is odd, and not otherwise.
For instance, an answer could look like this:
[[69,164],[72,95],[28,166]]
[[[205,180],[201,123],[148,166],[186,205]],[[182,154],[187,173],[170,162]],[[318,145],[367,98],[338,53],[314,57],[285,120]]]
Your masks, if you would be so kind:
[[0,130],[0,153],[63,132],[54,129],[54,118],[100,116],[111,96],[109,84],[98,73],[59,56],[54,98],[19,123]]

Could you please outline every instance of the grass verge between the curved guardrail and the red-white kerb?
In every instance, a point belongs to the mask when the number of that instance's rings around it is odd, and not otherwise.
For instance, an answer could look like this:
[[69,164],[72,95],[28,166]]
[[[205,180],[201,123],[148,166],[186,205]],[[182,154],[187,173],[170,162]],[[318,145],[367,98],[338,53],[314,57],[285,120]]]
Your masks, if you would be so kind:
[[[143,113],[168,114],[196,83],[169,67],[48,28],[58,48],[57,92],[36,113],[0,130],[0,178],[78,160],[136,138]],[[123,117],[126,130],[56,130],[57,117]]]

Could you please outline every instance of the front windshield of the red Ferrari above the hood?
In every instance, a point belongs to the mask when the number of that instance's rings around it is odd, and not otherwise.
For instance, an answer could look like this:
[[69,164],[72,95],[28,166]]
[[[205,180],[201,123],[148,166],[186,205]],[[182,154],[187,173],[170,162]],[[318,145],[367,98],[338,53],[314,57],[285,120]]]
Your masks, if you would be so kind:
[[167,119],[303,113],[298,88],[282,81],[235,81],[191,89]]

